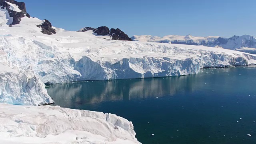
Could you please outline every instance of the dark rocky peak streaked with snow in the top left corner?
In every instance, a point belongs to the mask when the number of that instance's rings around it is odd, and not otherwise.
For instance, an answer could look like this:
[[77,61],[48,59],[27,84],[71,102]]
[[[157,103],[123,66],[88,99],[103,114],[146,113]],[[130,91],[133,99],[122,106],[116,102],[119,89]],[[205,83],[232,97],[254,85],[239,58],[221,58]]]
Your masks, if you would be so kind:
[[[10,4],[8,4],[7,2],[17,5],[21,12],[11,10]],[[27,14],[24,2],[16,2],[15,0],[0,0],[0,6],[2,6],[2,9],[6,8],[6,10],[8,10],[10,17],[13,17],[13,21],[10,25],[19,24],[21,21],[20,18],[25,17],[25,14]]]

